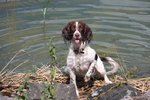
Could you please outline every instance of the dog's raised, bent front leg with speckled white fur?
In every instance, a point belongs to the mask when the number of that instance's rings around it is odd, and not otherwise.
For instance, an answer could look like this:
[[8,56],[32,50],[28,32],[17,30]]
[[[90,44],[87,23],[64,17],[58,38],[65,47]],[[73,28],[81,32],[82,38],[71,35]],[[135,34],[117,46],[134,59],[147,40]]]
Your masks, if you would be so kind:
[[85,77],[84,77],[84,81],[85,81],[85,82],[87,82],[87,81],[90,80],[90,77],[91,77],[91,75],[92,75],[92,73],[93,73],[93,71],[94,71],[95,65],[96,65],[96,61],[94,60],[94,61],[91,63],[91,65],[90,65],[90,67],[89,67],[87,73],[85,74]]

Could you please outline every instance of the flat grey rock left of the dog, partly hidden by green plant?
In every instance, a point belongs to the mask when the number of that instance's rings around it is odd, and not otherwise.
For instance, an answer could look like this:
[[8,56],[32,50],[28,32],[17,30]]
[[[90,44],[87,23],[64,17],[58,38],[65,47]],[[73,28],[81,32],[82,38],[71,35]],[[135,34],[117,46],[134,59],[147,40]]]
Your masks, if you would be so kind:
[[[44,84],[38,83],[30,83],[29,84],[29,100],[40,100],[42,95],[42,91],[45,89]],[[55,92],[56,92],[56,100],[77,100],[77,96],[75,95],[75,87],[73,84],[55,84]],[[49,94],[48,94],[49,95]],[[47,98],[47,97],[44,97]]]

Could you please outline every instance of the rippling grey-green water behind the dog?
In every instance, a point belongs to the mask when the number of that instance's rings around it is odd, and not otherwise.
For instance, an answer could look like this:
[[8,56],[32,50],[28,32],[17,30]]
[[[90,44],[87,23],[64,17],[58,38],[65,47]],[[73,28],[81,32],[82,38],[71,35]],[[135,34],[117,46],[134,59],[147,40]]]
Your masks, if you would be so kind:
[[16,71],[28,71],[49,63],[52,36],[58,37],[53,44],[60,65],[64,65],[68,47],[59,38],[61,30],[71,20],[83,20],[93,30],[91,45],[99,54],[112,56],[130,69],[138,68],[137,75],[150,75],[149,0],[47,1],[0,1],[0,69],[19,50],[25,52],[17,55],[8,69],[22,64]]

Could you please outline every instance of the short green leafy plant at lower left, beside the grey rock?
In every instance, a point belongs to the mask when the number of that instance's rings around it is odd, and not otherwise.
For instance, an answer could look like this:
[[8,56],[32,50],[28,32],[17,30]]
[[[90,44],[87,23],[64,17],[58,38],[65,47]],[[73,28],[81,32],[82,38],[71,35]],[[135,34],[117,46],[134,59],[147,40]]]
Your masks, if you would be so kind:
[[28,93],[26,91],[26,89],[29,88],[28,81],[29,81],[29,78],[25,78],[23,83],[18,87],[18,89],[17,89],[17,93],[18,93],[17,100],[28,100]]

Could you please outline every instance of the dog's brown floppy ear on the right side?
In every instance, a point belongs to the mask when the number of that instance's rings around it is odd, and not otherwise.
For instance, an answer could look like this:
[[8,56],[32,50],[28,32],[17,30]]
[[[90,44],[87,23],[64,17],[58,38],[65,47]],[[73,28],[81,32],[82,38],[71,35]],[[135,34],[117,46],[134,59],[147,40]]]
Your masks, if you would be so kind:
[[86,24],[84,24],[84,37],[85,37],[85,41],[88,42],[90,42],[93,37],[91,28]]

